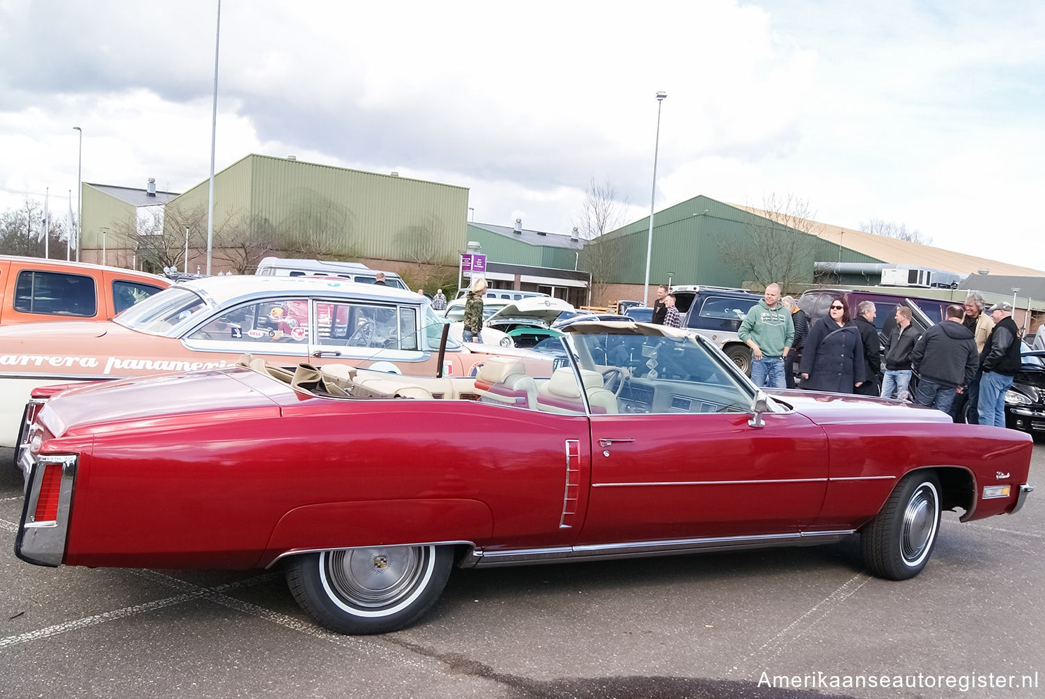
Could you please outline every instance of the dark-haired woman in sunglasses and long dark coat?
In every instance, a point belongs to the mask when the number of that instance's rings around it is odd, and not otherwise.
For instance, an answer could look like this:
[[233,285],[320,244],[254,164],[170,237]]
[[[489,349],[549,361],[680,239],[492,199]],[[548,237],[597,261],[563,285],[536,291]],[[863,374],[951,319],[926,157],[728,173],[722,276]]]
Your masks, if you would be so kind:
[[802,352],[802,388],[853,393],[865,373],[860,330],[850,322],[845,302],[831,301],[828,317],[817,321]]

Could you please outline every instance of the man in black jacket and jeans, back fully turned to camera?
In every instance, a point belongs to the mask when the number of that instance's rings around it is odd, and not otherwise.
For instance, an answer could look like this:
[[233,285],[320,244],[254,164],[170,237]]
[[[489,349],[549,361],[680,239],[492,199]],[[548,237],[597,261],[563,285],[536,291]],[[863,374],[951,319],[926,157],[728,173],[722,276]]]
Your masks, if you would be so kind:
[[976,376],[979,355],[973,333],[961,325],[966,309],[948,306],[946,320],[925,331],[911,350],[911,370],[918,375],[914,402],[951,412],[954,396]]

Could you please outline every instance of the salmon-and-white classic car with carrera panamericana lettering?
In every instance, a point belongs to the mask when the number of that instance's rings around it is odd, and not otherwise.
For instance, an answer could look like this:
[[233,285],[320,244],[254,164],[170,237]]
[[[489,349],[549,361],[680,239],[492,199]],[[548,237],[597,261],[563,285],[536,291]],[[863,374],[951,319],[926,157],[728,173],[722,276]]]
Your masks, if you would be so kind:
[[0,328],[0,446],[16,445],[22,407],[39,386],[217,368],[243,352],[291,366],[379,362],[427,376],[474,375],[490,354],[551,365],[496,344],[451,342],[440,353],[443,324],[409,290],[242,276],[175,284],[112,321]]

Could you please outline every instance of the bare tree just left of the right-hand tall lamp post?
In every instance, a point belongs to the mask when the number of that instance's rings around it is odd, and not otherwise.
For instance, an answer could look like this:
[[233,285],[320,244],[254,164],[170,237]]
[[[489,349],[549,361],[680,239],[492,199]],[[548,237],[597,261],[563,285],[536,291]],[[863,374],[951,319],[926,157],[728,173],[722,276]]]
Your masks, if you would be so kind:
[[591,273],[593,299],[606,300],[603,299],[606,288],[621,267],[626,242],[607,234],[624,224],[627,210],[627,197],[620,197],[608,180],[600,183],[591,177],[574,223],[578,235],[585,240],[580,261]]

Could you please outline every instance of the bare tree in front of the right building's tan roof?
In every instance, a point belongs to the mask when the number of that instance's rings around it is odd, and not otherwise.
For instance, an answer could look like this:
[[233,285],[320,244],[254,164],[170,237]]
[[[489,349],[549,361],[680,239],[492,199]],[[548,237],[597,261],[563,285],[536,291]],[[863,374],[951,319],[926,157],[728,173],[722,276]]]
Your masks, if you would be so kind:
[[785,289],[813,280],[813,257],[820,225],[809,202],[794,194],[768,194],[758,213],[744,214],[745,235],[723,239],[723,260],[750,281],[779,282]]

